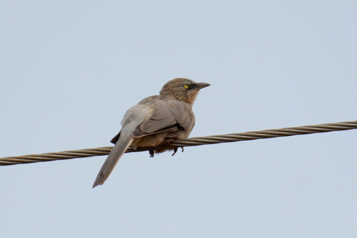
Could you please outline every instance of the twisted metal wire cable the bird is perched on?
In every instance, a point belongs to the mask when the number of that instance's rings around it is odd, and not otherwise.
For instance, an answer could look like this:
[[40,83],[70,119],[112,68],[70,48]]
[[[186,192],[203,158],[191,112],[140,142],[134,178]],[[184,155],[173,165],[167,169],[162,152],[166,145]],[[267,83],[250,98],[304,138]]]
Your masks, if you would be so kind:
[[[175,140],[167,146],[137,148],[129,147],[125,153],[140,152],[152,149],[178,148],[195,145],[218,144],[225,142],[237,142],[241,140],[256,140],[274,137],[287,137],[291,135],[303,135],[321,132],[332,132],[338,130],[357,129],[357,121],[327,123],[319,125],[307,125],[302,127],[288,127],[281,129],[260,130],[256,132],[232,133],[224,135],[211,135],[208,137],[193,137],[185,140]],[[97,155],[108,155],[113,147],[99,147],[92,149],[68,150],[62,152],[52,152],[44,154],[31,154],[22,156],[10,156],[0,158],[0,165],[27,164],[35,162],[45,162],[52,160],[74,159],[92,157]]]

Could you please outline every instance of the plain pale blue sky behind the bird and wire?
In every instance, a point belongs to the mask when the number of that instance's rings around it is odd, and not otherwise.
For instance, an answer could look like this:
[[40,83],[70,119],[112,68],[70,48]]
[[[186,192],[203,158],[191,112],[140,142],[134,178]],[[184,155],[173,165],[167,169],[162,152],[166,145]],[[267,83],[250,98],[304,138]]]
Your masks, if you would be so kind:
[[[210,83],[190,137],[357,120],[356,1],[2,1],[0,157],[110,146]],[[357,237],[357,130],[0,167],[1,237]]]

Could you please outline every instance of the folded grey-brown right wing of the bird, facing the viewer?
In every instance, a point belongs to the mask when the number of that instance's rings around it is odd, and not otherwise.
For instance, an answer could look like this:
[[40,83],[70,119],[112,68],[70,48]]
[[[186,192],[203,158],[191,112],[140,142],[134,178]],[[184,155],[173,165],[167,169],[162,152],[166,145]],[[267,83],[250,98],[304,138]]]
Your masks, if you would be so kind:
[[189,104],[183,101],[166,101],[164,105],[155,109],[150,117],[137,125],[132,137],[175,131],[179,127],[185,130],[192,122],[192,115]]

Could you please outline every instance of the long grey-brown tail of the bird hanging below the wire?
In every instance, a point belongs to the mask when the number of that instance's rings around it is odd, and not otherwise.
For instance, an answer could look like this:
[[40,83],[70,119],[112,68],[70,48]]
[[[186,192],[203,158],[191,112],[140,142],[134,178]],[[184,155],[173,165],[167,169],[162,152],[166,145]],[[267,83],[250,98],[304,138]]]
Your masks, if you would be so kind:
[[117,141],[110,151],[107,159],[105,160],[102,168],[99,170],[97,178],[94,181],[93,187],[97,187],[98,185],[102,185],[105,180],[109,177],[110,173],[113,171],[116,163],[118,163],[121,156],[125,153],[126,149],[129,147],[134,138],[129,137],[126,140]]

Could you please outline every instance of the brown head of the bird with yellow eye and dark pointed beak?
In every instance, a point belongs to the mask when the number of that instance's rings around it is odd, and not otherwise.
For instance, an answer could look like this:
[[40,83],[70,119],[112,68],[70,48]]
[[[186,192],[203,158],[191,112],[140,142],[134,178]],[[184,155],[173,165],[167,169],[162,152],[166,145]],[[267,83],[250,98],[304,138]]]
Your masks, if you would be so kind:
[[198,91],[210,85],[211,84],[207,83],[196,83],[191,79],[176,78],[168,81],[162,86],[160,95],[180,101],[186,101],[186,103],[192,106]]

